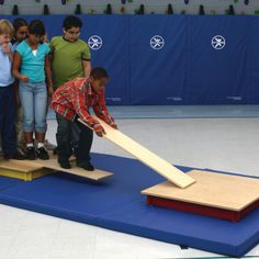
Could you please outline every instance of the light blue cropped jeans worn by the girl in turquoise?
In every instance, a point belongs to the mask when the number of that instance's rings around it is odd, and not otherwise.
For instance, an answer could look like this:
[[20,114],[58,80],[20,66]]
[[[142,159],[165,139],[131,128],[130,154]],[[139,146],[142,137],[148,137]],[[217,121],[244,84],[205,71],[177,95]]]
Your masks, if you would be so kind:
[[19,83],[23,112],[23,131],[45,133],[47,130],[47,88],[45,82]]

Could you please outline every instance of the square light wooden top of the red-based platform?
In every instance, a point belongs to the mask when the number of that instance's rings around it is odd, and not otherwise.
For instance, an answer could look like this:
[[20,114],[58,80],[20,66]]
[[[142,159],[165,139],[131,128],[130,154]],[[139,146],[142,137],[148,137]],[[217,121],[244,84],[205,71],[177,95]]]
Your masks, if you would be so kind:
[[188,172],[196,180],[181,190],[166,181],[143,194],[230,211],[241,211],[259,200],[259,179],[202,170]]

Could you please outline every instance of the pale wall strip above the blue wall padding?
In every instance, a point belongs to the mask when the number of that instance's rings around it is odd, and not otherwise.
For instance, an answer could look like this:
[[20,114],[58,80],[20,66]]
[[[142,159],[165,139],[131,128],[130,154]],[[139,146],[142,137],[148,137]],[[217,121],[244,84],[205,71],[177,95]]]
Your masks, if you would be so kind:
[[[38,2],[40,1],[40,2]],[[121,13],[121,8],[125,8],[125,13],[133,14],[135,9],[145,4],[145,13],[165,13],[168,3],[173,7],[174,13],[185,11],[188,14],[198,14],[199,5],[203,4],[207,14],[224,14],[229,4],[233,4],[236,14],[254,14],[259,10],[259,0],[250,0],[245,5],[244,0],[189,0],[190,3],[184,4],[184,0],[133,0],[126,4],[122,4],[121,0],[67,0],[67,4],[63,5],[61,0],[4,0],[4,4],[0,5],[0,14],[11,14],[13,4],[19,5],[20,14],[42,14],[43,5],[48,4],[50,14],[72,14],[77,3],[81,4],[82,13],[94,10],[94,13],[103,13],[108,3],[112,4],[113,13]]]

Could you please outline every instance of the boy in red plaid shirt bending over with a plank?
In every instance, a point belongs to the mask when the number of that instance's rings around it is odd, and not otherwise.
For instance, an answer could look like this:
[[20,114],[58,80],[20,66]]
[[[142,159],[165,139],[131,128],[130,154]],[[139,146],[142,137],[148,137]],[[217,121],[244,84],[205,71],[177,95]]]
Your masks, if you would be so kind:
[[[94,68],[88,79],[76,78],[55,91],[52,106],[57,116],[57,155],[63,168],[70,168],[69,157],[74,147],[77,166],[89,171],[94,169],[89,155],[93,138],[92,130],[98,136],[102,136],[105,132],[90,115],[91,106],[98,117],[117,128],[105,106],[104,87],[108,79],[109,76],[103,68]],[[78,117],[92,130],[78,122]]]

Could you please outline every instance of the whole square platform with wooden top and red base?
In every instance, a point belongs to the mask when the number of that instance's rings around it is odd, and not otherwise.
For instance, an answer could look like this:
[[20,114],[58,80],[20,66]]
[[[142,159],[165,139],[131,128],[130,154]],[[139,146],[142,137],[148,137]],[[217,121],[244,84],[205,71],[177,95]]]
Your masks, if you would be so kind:
[[166,181],[142,191],[148,205],[239,221],[259,206],[259,180],[202,170],[188,172],[196,183],[178,189]]

